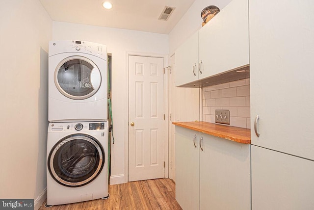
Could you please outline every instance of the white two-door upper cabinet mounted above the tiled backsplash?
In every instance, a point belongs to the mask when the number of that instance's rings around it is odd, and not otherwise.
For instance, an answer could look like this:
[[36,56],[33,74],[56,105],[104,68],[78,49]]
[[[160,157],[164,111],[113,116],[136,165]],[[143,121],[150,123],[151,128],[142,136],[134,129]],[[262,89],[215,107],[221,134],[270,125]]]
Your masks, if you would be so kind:
[[248,65],[248,25],[248,0],[231,1],[176,51],[176,86]]

